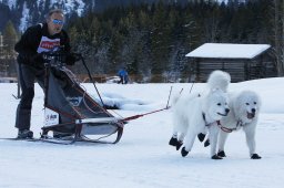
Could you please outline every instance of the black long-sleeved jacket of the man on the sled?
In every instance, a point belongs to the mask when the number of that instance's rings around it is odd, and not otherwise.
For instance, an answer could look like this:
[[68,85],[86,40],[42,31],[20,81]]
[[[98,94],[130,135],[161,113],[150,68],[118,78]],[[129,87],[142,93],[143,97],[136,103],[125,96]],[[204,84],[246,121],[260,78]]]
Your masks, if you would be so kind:
[[14,50],[19,53],[18,63],[30,64],[33,66],[41,66],[43,62],[32,62],[32,58],[38,54],[37,50],[40,45],[42,36],[49,39],[60,39],[60,45],[64,46],[65,53],[70,53],[70,40],[64,30],[60,33],[50,35],[48,32],[48,24],[37,24],[27,29],[22,34],[20,41],[14,45]]

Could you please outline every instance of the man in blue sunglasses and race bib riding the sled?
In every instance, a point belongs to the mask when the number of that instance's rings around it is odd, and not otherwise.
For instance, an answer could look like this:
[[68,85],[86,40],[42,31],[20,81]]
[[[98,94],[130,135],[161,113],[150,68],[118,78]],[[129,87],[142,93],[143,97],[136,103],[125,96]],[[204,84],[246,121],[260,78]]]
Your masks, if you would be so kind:
[[22,88],[21,101],[17,108],[16,127],[18,128],[18,138],[32,138],[30,130],[31,108],[34,96],[34,81],[37,80],[41,87],[44,85],[44,60],[42,52],[58,51],[64,46],[63,52],[67,55],[67,64],[74,64],[75,58],[70,53],[69,36],[62,30],[64,14],[60,9],[51,10],[44,23],[40,23],[27,29],[14,50],[19,53],[17,61],[19,63],[19,82]]

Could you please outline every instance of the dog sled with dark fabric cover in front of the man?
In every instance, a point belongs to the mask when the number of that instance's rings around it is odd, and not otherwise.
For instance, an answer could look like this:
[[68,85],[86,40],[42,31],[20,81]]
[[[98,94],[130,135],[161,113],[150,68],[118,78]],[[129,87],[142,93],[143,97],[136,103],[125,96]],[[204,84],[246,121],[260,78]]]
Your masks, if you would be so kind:
[[[123,133],[123,122],[98,104],[80,85],[64,64],[65,54],[59,51],[48,52],[43,54],[43,59],[44,126],[41,138],[50,140],[49,133],[52,132],[53,137],[59,139],[68,136],[71,144],[79,140],[98,143],[116,134],[113,142],[106,143],[118,143]],[[77,55],[77,59],[84,63],[81,55]]]

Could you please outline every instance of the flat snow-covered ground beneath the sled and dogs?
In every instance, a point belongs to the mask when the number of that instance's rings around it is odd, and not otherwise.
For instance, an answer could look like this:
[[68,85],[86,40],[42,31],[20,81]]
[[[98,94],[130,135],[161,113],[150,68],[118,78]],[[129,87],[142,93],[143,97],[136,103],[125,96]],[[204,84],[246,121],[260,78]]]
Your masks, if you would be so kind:
[[[284,186],[284,77],[234,83],[230,91],[250,88],[262,97],[256,133],[260,160],[250,159],[243,132],[232,133],[226,143],[227,157],[210,158],[209,148],[197,139],[192,152],[182,157],[169,146],[171,109],[129,122],[116,145],[54,145],[0,140],[1,188],[282,188]],[[93,96],[91,84],[84,85]],[[165,107],[169,92],[191,84],[98,84],[104,101],[116,103],[123,117]],[[195,84],[202,91],[205,84]],[[12,94],[16,84],[0,84],[0,137],[14,137]],[[111,112],[114,113],[114,112]],[[32,127],[40,135],[43,123],[43,93],[37,85]]]

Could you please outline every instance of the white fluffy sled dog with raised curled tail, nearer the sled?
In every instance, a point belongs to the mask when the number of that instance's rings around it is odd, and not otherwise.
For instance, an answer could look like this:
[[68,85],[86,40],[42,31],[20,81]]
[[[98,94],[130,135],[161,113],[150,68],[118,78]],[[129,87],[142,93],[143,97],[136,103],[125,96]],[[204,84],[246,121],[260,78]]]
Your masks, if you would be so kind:
[[[185,157],[192,149],[196,135],[209,128],[211,145],[211,158],[222,159],[216,155],[216,142],[219,127],[210,126],[212,123],[226,116],[229,98],[226,90],[231,82],[230,74],[222,71],[214,71],[207,80],[209,91],[204,94],[181,95],[173,100],[173,135],[169,142],[176,150],[181,150]],[[183,143],[183,140],[185,140]]]

